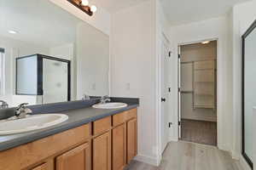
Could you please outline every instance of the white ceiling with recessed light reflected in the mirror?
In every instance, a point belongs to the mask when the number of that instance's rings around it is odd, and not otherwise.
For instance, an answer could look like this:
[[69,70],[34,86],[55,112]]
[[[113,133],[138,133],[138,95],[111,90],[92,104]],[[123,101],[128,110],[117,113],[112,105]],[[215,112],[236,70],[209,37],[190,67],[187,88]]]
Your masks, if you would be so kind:
[[[46,0],[0,0],[0,36],[45,48],[75,41],[81,20]],[[17,34],[9,34],[9,30]]]

